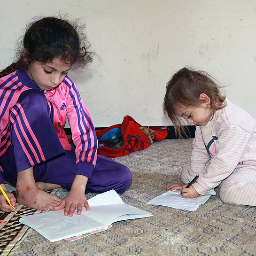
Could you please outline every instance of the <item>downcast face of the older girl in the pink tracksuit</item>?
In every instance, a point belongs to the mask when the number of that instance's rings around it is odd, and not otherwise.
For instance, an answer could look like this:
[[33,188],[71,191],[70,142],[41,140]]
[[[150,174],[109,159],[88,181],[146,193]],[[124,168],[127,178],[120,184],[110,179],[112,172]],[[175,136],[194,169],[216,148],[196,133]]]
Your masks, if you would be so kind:
[[27,72],[41,90],[49,91],[63,81],[71,67],[71,64],[54,58],[52,62],[32,62]]

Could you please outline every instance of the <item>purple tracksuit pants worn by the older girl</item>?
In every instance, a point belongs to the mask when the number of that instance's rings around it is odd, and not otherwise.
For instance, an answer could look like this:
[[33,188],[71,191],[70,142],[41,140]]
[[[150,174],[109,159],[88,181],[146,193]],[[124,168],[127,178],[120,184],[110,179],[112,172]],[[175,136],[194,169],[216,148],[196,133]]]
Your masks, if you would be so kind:
[[[75,150],[63,149],[49,117],[46,97],[41,91],[27,90],[21,94],[17,102],[22,105],[42,150],[48,152],[48,148],[54,148],[52,153],[46,153],[46,155],[48,154],[47,161],[33,166],[35,181],[58,184],[62,188],[70,190],[77,168]],[[12,118],[15,121],[15,116]],[[24,167],[21,168],[20,163],[24,162],[27,157],[11,122],[9,122],[9,130],[11,145],[1,155],[0,165],[4,170],[3,178],[11,185],[16,186],[17,171],[25,170],[31,165],[25,161]],[[98,155],[91,181],[87,183],[85,192],[102,193],[115,189],[118,194],[122,194],[131,183],[132,174],[128,167],[106,156]]]

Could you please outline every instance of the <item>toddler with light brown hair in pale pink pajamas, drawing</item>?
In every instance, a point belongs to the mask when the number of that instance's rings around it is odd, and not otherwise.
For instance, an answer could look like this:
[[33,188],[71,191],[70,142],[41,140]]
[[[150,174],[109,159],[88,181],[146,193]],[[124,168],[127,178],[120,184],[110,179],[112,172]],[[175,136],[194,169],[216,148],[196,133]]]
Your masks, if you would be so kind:
[[208,73],[188,67],[167,83],[163,108],[177,133],[179,127],[185,132],[182,118],[196,125],[191,161],[181,171],[183,184],[168,189],[194,198],[220,187],[223,202],[256,206],[256,119],[222,95]]

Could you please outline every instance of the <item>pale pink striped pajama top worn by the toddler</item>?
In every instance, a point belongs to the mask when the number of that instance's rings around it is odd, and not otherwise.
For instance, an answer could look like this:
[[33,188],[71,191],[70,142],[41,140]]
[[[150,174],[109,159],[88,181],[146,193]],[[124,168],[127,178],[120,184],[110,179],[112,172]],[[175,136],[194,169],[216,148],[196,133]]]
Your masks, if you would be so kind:
[[[256,119],[228,99],[205,126],[196,126],[190,180],[199,194],[215,188],[237,168],[256,166]],[[254,171],[252,168],[251,171]]]

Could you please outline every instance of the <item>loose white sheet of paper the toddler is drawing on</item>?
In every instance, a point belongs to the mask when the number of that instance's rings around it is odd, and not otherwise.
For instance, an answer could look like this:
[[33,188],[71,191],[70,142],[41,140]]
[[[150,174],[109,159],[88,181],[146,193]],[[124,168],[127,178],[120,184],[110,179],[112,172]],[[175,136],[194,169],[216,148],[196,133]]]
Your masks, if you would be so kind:
[[214,189],[207,191],[205,195],[199,195],[196,198],[185,198],[180,194],[180,190],[168,190],[155,198],[151,199],[148,204],[157,204],[172,207],[175,209],[196,210],[201,204],[205,203],[211,195],[215,195]]

